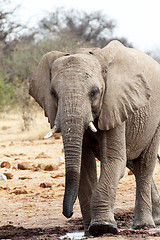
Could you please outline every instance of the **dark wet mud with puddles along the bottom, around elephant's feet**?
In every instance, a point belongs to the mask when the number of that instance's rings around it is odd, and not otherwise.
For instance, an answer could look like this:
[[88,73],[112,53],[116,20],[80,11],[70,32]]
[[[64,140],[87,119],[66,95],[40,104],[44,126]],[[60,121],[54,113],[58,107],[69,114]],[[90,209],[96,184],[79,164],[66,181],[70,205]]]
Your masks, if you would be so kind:
[[[115,214],[115,218],[119,228],[119,237],[121,239],[145,239],[152,237],[155,239],[160,237],[160,228],[132,230],[133,211],[121,211]],[[104,238],[118,237],[118,235],[105,234]],[[64,237],[64,238],[63,238]],[[83,223],[81,218],[71,219],[68,221],[68,227],[55,226],[53,228],[23,228],[13,225],[5,225],[0,227],[0,239],[82,239]]]

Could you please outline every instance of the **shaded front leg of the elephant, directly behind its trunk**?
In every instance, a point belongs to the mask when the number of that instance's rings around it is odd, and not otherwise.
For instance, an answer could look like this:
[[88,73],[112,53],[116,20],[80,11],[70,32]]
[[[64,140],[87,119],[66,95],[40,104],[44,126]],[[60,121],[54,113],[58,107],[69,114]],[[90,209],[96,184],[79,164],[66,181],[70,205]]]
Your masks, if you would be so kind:
[[89,235],[88,227],[91,221],[90,202],[92,191],[97,183],[96,160],[91,149],[83,147],[80,187],[78,198],[83,216],[85,235]]

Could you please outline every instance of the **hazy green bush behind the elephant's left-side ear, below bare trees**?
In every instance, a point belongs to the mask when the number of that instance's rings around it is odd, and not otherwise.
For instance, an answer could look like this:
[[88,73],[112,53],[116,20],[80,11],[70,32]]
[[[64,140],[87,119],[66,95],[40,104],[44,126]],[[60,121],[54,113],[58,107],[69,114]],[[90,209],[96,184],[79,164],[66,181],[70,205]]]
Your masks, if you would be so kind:
[[40,59],[50,51],[74,52],[89,44],[78,42],[65,33],[39,41],[17,41],[9,54],[4,54],[0,64],[0,109],[16,102],[23,120],[23,129],[29,129],[33,118],[28,82],[33,76]]

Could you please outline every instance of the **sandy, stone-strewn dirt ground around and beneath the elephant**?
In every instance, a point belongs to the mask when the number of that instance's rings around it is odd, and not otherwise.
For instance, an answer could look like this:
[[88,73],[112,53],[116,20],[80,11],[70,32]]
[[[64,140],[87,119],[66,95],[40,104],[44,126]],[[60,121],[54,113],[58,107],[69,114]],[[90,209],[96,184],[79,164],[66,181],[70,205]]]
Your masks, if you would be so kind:
[[[49,124],[42,112],[36,115],[30,131],[21,130],[22,120],[17,112],[0,115],[0,178],[4,178],[3,174],[11,178],[0,181],[0,239],[58,239],[67,232],[83,229],[78,201],[70,220],[62,215],[62,139],[44,140]],[[97,166],[99,169],[98,161]],[[158,163],[154,179],[160,191]],[[95,239],[160,239],[159,227],[143,231],[129,229],[134,200],[135,179],[126,169],[115,204],[115,217],[121,230],[116,236],[108,234]]]

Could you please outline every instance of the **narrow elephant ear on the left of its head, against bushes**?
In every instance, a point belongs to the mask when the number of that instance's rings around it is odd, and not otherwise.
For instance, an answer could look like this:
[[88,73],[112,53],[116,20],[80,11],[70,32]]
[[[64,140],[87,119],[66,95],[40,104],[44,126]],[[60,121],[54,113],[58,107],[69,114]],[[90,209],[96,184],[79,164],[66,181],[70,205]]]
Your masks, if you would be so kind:
[[48,121],[51,124],[51,128],[54,125],[56,117],[56,105],[50,94],[51,88],[51,67],[53,62],[66,55],[66,53],[59,51],[52,51],[45,54],[33,75],[33,78],[29,82],[29,94],[39,103],[44,109],[45,116],[48,117]]

